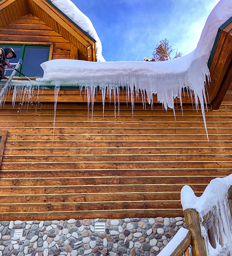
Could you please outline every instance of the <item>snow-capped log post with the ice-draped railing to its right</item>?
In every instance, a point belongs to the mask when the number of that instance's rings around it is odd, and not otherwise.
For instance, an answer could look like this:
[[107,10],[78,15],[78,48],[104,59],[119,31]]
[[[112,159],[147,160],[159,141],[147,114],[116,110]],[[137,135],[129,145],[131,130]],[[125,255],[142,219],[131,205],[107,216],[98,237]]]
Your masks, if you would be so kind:
[[232,255],[232,174],[211,180],[196,197],[190,186],[181,191],[193,256]]

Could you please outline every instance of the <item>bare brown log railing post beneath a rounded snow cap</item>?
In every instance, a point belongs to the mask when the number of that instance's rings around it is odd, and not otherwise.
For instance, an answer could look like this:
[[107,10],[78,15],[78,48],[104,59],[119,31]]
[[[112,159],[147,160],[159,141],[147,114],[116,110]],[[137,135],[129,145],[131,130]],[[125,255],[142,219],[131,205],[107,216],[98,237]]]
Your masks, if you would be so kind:
[[201,235],[199,213],[195,209],[186,209],[183,213],[192,236],[193,256],[207,256],[205,241]]

